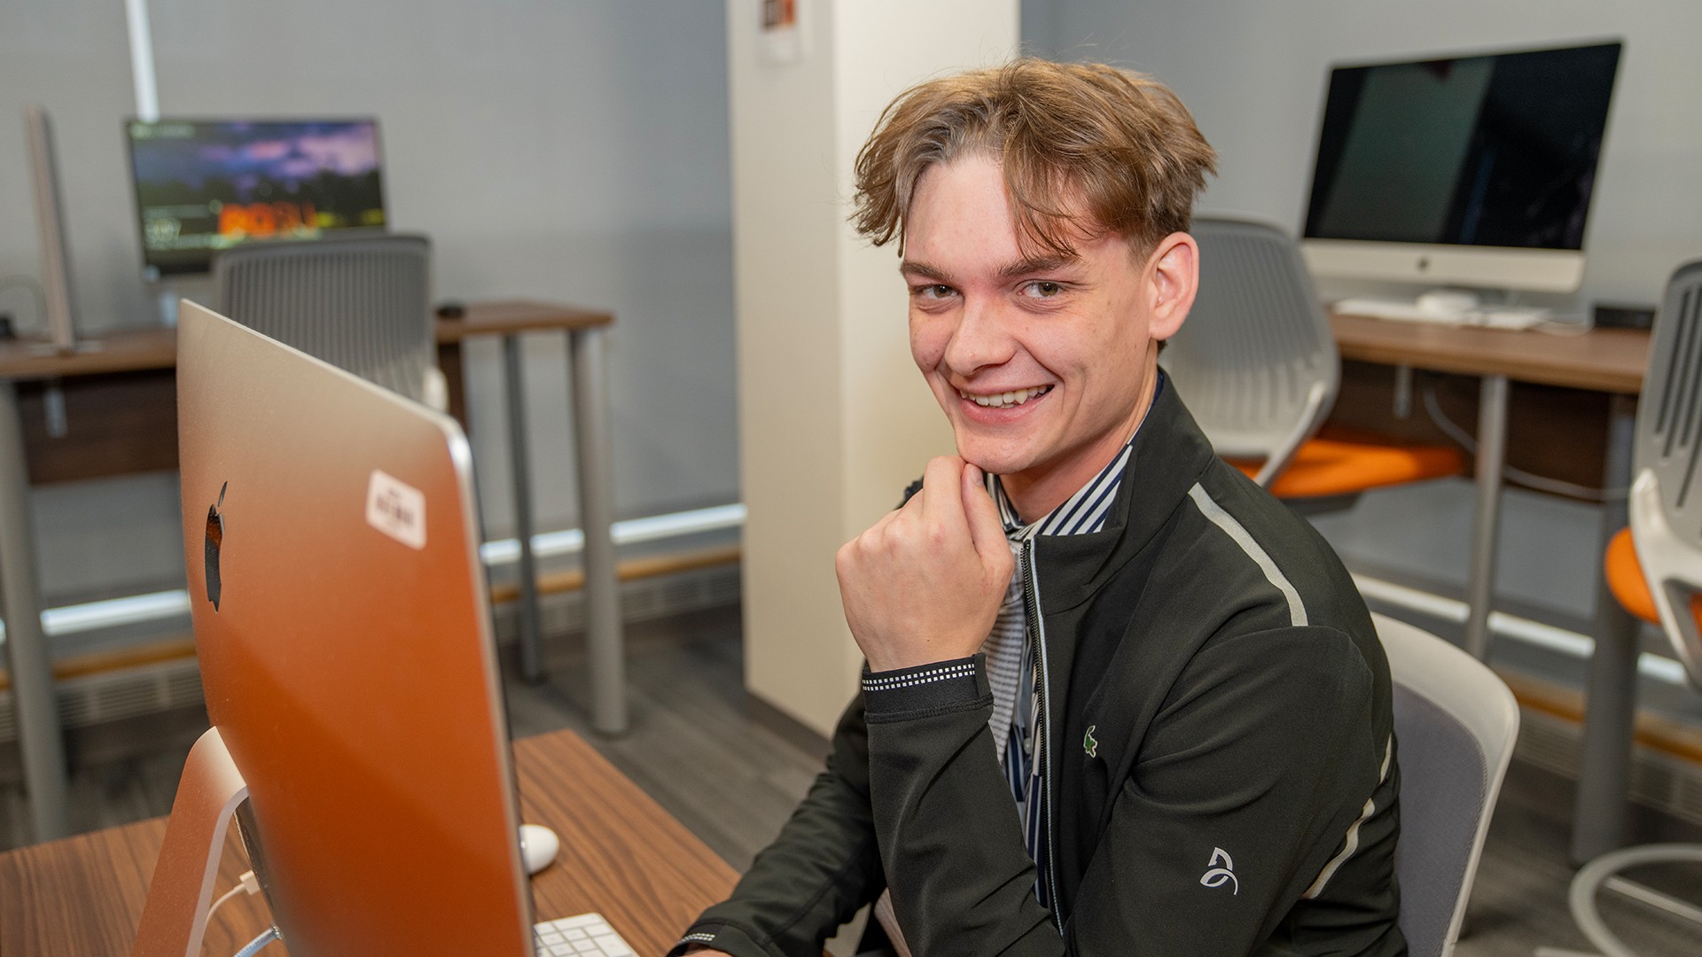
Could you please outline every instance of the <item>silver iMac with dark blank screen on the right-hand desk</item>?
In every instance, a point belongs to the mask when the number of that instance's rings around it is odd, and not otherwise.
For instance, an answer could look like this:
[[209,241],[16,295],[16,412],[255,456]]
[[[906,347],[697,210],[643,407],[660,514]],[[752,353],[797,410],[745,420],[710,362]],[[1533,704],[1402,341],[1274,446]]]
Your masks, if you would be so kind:
[[1336,66],[1302,249],[1317,276],[1566,293],[1620,44]]

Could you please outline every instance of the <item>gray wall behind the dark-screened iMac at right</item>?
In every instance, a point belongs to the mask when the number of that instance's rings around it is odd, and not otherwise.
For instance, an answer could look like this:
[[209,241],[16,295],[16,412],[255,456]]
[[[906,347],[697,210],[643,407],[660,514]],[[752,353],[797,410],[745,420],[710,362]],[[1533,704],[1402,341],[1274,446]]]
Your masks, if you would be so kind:
[[[1110,60],[1176,89],[1217,146],[1200,208],[1300,225],[1333,63],[1625,41],[1576,298],[1653,301],[1702,255],[1702,3],[1692,0],[1028,0],[1031,49]],[[1326,289],[1328,291],[1328,289]]]

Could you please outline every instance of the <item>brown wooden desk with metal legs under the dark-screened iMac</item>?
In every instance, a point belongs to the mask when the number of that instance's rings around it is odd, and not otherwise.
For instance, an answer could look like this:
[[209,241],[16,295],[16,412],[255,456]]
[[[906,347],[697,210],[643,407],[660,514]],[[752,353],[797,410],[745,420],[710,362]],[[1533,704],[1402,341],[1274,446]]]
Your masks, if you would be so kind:
[[[1532,381],[1610,393],[1605,489],[1631,485],[1636,395],[1649,361],[1649,334],[1591,329],[1581,335],[1544,335],[1428,324],[1331,317],[1343,359],[1481,376],[1477,405],[1477,507],[1467,577],[1465,649],[1484,657],[1494,598],[1494,557],[1506,458],[1508,381]],[[1596,555],[1625,526],[1625,502],[1607,502]],[[1595,652],[1590,657],[1585,739],[1573,812],[1573,858],[1585,862],[1622,846],[1627,828],[1637,710],[1637,623],[1596,576]]]

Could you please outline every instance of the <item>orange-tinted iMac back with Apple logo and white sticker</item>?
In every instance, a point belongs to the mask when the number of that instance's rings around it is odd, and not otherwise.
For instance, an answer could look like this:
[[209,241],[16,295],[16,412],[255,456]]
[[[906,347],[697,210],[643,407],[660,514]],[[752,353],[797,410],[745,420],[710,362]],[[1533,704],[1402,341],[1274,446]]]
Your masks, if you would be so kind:
[[192,303],[177,381],[208,715],[289,954],[531,955],[461,429]]

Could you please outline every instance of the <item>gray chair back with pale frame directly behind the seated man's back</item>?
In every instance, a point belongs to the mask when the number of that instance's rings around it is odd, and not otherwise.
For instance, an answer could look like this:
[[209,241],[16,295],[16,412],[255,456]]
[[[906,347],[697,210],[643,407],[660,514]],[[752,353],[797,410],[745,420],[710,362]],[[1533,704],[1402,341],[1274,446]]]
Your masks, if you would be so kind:
[[1401,766],[1401,931],[1413,957],[1447,957],[1460,937],[1489,817],[1518,739],[1513,691],[1452,644],[1372,615],[1394,681]]

